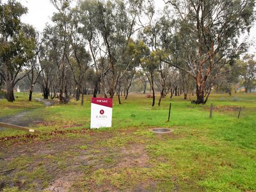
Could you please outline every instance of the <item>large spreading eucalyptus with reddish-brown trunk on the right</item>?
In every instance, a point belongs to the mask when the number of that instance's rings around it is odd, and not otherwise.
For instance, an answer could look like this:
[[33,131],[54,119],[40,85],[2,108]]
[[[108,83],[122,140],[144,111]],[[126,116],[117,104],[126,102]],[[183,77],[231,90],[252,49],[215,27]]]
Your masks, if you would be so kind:
[[234,60],[244,51],[239,36],[252,27],[254,1],[169,0],[166,4],[175,10],[179,48],[186,50],[186,54],[176,55],[185,66],[166,62],[195,79],[196,104],[204,104],[205,84],[215,68],[223,64],[221,59]]

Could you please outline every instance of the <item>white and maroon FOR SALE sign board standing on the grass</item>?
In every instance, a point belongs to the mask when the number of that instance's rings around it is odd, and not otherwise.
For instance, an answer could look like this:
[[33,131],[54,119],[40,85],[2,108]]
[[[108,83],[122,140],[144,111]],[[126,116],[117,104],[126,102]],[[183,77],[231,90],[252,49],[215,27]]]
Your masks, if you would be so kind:
[[113,99],[92,98],[91,102],[91,129],[111,127]]

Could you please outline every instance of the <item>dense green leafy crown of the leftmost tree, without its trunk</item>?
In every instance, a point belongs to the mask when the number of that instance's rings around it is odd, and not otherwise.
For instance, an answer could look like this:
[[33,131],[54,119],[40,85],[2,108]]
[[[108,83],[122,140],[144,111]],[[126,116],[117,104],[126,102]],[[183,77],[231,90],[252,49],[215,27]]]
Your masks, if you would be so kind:
[[4,63],[8,63],[10,71],[15,72],[33,57],[35,39],[29,34],[33,31],[27,30],[27,26],[20,22],[20,17],[27,12],[26,8],[15,1],[8,1],[1,7],[0,58]]

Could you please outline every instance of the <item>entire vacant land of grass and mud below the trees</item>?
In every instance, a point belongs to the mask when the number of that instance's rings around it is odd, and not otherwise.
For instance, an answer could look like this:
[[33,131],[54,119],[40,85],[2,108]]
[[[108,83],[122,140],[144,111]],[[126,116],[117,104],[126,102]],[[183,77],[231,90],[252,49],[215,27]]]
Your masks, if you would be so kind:
[[0,191],[256,191],[256,94],[212,94],[200,106],[166,97],[154,108],[131,94],[114,99],[113,127],[99,130],[88,129],[90,97],[45,106],[27,95],[0,100],[0,120],[47,134],[0,131]]

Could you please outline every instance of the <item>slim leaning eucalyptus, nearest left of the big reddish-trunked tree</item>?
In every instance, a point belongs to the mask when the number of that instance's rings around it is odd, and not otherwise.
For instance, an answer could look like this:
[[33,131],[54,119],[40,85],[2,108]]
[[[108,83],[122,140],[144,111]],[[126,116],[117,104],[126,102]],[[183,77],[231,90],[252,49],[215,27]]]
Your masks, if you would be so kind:
[[[173,33],[175,32],[175,21],[168,13],[169,10],[165,8],[161,15],[157,15],[154,1],[148,1],[145,12],[148,21],[144,25],[143,31],[140,33],[140,38],[142,38],[150,50],[156,54],[155,59],[158,59],[156,62],[159,63],[159,65],[157,65],[157,72],[159,73],[158,87],[160,90],[158,106],[160,106],[162,98],[165,97],[168,92],[166,81],[170,79],[171,70],[170,63],[164,62],[166,56],[172,54],[170,47],[172,46]],[[166,50],[168,50],[168,54],[166,54]]]

